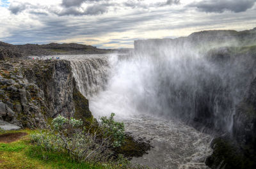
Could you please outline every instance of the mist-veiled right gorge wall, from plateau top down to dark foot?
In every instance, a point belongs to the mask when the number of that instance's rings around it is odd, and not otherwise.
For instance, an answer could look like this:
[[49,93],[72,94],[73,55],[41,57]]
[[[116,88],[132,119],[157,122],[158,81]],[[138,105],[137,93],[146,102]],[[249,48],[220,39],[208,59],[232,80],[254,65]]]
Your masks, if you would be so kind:
[[207,159],[211,168],[256,168],[255,38],[252,29],[134,41],[137,55],[160,65],[153,85],[163,114],[218,137]]

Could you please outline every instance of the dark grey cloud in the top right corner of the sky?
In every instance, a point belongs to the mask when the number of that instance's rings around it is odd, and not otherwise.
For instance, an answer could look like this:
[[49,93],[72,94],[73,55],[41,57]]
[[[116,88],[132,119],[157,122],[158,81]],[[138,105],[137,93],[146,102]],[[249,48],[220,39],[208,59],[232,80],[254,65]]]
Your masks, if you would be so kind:
[[234,11],[236,13],[246,11],[253,7],[256,0],[204,0],[198,3],[191,3],[189,7],[195,7],[198,11],[223,13]]

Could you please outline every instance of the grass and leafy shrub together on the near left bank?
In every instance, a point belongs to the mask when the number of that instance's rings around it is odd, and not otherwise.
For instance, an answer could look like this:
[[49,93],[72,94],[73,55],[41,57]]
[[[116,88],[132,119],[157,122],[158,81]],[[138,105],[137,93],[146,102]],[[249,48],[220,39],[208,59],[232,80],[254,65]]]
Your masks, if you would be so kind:
[[[28,133],[12,143],[0,143],[0,168],[145,168],[132,166],[112,149],[124,143],[124,124],[114,115],[102,117],[98,128],[83,128],[83,122],[58,116],[44,130],[0,131]],[[1,135],[0,135],[1,136]]]

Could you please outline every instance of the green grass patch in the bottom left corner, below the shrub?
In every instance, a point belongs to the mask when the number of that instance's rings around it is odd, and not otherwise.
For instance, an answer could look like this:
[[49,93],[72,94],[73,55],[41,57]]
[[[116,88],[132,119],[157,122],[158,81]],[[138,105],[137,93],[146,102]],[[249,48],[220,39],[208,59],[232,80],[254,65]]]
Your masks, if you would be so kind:
[[[93,165],[92,163],[78,163],[72,161],[67,154],[58,152],[42,152],[40,147],[33,145],[30,141],[32,133],[38,133],[38,130],[23,129],[20,131],[7,131],[4,133],[25,132],[28,135],[12,143],[0,143],[0,168],[74,168],[74,169],[105,169],[122,168],[122,165],[102,164]],[[0,133],[3,133],[0,132]]]

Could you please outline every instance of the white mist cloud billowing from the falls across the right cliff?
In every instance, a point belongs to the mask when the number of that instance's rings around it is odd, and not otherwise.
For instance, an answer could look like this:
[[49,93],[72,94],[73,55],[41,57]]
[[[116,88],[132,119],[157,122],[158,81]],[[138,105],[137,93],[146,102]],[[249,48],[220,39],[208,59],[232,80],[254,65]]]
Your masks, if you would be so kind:
[[255,59],[234,54],[241,42],[232,39],[135,41],[129,57],[109,57],[108,83],[90,109],[95,117],[147,114],[231,131],[235,105],[255,77]]

